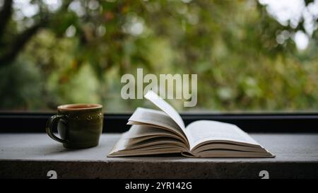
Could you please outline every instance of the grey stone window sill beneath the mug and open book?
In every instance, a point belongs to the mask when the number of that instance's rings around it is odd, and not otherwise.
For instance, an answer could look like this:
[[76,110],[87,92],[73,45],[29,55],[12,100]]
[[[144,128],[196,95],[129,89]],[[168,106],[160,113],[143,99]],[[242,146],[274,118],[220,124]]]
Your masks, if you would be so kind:
[[318,134],[251,134],[276,158],[106,158],[119,134],[103,134],[95,148],[68,150],[46,134],[0,134],[0,177],[270,178],[318,177]]

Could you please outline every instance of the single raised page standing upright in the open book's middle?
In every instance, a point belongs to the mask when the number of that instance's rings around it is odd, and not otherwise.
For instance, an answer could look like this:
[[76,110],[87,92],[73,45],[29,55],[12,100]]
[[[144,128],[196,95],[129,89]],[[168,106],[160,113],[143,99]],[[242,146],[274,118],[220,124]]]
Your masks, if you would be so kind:
[[179,113],[171,106],[169,103],[165,102],[163,98],[160,98],[153,90],[149,90],[146,93],[145,98],[150,100],[154,105],[156,105],[160,110],[167,113],[177,125],[185,132],[185,126],[182,118],[180,117]]

